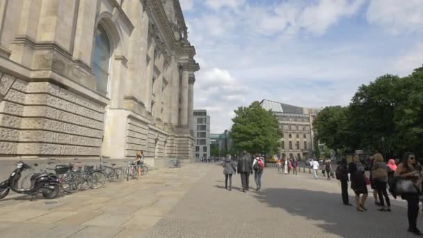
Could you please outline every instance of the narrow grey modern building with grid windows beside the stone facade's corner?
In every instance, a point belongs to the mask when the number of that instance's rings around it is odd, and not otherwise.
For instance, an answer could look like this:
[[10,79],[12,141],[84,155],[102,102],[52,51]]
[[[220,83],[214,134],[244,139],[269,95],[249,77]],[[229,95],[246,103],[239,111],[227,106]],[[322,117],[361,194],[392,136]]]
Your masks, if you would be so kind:
[[210,157],[210,116],[206,110],[193,111],[193,129],[196,136],[195,158]]

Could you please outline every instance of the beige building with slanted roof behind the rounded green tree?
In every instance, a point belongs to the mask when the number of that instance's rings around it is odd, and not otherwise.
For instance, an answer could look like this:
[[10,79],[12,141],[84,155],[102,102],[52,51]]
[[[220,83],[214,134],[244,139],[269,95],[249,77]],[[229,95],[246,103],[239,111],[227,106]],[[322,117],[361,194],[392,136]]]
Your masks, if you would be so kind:
[[309,159],[313,157],[313,128],[317,109],[292,106],[280,102],[262,100],[260,105],[273,112],[282,130],[280,156]]

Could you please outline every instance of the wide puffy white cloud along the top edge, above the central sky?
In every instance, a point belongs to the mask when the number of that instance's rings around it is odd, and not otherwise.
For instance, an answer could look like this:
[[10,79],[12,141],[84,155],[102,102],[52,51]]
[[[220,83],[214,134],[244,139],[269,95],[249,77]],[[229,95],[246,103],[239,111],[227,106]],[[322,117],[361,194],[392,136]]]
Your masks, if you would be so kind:
[[251,29],[264,35],[296,34],[301,30],[322,35],[343,17],[357,13],[365,0],[282,1],[275,6],[246,8]]

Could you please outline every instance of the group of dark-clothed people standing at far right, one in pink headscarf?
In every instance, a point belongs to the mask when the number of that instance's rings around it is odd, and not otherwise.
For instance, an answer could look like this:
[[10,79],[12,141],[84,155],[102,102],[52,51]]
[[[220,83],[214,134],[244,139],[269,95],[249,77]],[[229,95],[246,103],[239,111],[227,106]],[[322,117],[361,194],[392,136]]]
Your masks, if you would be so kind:
[[[374,154],[369,165],[370,177],[365,175],[365,168],[358,157],[347,164],[346,159],[341,161],[336,170],[336,177],[341,182],[342,201],[344,205],[349,203],[348,182],[351,181],[351,189],[355,193],[356,209],[365,212],[365,203],[368,196],[367,185],[373,189],[374,203],[378,211],[391,212],[389,191],[395,198],[401,196],[407,201],[408,207],[408,232],[415,235],[423,235],[417,228],[417,216],[419,214],[420,196],[422,195],[422,167],[417,163],[415,155],[411,152],[404,154],[401,162],[397,165],[394,159],[385,164],[383,155]],[[348,176],[350,174],[350,176]]]

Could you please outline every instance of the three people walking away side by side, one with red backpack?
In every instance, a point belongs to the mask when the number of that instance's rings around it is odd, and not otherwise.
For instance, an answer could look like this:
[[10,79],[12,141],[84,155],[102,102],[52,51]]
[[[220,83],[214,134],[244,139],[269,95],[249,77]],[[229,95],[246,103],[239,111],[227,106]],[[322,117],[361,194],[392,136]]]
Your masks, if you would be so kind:
[[244,193],[250,190],[250,174],[253,173],[256,191],[261,191],[264,161],[258,155],[254,159],[251,159],[250,154],[244,151],[236,164],[230,154],[227,154],[221,164],[223,166],[223,174],[225,175],[225,189],[232,190],[232,175],[238,172],[241,175],[242,191]]

